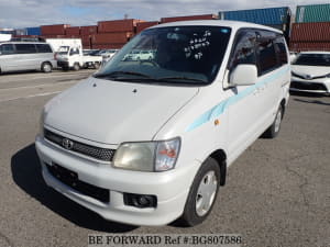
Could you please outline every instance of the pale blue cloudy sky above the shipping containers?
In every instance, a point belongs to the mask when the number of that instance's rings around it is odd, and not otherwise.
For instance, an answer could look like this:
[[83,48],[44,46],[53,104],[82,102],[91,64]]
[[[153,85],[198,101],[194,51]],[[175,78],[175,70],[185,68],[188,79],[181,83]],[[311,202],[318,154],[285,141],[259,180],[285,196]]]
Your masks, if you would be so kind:
[[0,29],[45,24],[95,25],[98,21],[217,14],[219,11],[329,3],[329,0],[0,0]]

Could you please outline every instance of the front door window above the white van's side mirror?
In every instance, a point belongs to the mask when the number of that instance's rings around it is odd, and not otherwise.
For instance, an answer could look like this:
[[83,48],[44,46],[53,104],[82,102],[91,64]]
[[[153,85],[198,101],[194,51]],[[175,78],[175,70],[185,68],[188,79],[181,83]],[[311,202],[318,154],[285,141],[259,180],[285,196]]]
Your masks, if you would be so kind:
[[240,64],[255,65],[255,33],[241,31],[237,36],[229,69],[234,69]]

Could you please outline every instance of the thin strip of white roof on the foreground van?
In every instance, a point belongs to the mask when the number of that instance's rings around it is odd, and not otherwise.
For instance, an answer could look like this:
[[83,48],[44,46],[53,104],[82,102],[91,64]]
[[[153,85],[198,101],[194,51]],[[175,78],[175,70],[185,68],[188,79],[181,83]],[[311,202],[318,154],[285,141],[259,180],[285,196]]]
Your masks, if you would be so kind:
[[200,20],[200,21],[178,21],[178,22],[169,22],[160,25],[154,25],[148,29],[156,29],[156,27],[166,27],[166,26],[187,26],[187,25],[211,25],[211,26],[226,26],[231,27],[232,30],[237,31],[239,29],[260,29],[260,30],[267,30],[276,33],[282,33],[282,31],[265,26],[258,25],[250,22],[239,22],[239,21],[224,21],[224,20]]

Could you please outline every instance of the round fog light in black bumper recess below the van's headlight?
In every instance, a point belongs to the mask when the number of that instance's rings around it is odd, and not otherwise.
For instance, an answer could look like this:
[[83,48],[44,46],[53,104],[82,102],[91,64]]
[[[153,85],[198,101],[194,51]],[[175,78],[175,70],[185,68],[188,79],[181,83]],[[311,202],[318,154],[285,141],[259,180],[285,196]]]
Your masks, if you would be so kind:
[[124,193],[124,204],[135,206],[139,209],[156,207],[157,198],[150,194],[131,194]]

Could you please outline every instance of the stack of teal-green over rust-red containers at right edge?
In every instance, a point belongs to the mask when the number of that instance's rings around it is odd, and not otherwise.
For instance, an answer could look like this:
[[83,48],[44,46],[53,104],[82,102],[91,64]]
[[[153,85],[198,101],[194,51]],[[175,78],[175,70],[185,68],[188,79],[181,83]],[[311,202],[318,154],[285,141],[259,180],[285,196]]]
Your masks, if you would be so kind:
[[290,49],[330,50],[330,4],[298,5]]

